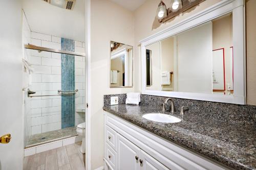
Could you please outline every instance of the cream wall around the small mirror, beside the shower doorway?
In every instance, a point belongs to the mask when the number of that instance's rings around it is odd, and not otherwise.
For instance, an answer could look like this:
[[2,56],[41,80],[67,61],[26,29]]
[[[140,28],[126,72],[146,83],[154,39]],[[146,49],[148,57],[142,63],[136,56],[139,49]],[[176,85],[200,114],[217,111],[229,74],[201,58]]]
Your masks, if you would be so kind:
[[[134,46],[133,12],[110,1],[91,1],[91,163],[103,166],[103,95],[134,91],[110,88],[110,41]],[[138,72],[134,72],[134,75]]]

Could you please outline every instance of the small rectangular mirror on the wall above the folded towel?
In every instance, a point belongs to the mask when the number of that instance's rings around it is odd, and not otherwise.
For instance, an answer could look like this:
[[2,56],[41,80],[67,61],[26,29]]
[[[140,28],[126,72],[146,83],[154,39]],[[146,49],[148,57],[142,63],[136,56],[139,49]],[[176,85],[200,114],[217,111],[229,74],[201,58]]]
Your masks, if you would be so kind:
[[133,46],[111,41],[110,87],[133,86]]

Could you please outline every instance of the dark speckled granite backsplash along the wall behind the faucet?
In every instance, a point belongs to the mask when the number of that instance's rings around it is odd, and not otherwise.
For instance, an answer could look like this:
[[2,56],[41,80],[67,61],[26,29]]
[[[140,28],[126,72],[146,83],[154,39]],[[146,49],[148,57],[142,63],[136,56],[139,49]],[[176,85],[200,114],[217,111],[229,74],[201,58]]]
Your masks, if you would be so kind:
[[[118,96],[118,104],[125,104],[126,94],[110,94],[104,95],[104,106],[110,105],[111,96]],[[159,106],[167,97],[141,94],[140,98],[140,105]],[[256,128],[256,106],[179,98],[172,99],[177,111],[180,111],[182,106],[189,106],[189,110],[186,111],[187,114],[197,114],[204,118],[218,119],[227,123]],[[167,108],[169,107],[170,104],[168,102]]]

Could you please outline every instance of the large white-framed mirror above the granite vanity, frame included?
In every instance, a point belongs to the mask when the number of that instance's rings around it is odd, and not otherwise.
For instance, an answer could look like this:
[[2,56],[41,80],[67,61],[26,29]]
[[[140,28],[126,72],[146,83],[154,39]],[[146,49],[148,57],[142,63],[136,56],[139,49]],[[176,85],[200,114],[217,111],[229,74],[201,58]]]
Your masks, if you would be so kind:
[[142,93],[245,104],[243,1],[223,1],[141,41]]

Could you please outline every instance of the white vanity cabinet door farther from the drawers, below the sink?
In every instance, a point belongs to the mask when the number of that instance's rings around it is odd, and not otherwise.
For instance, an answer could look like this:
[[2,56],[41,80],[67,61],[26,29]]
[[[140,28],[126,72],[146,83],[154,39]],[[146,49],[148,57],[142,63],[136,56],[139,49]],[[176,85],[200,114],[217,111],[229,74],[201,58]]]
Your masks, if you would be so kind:
[[142,163],[140,164],[141,170],[167,170],[168,169],[163,164],[161,164],[152,156],[148,155],[142,150],[140,152],[139,161],[142,161]]

